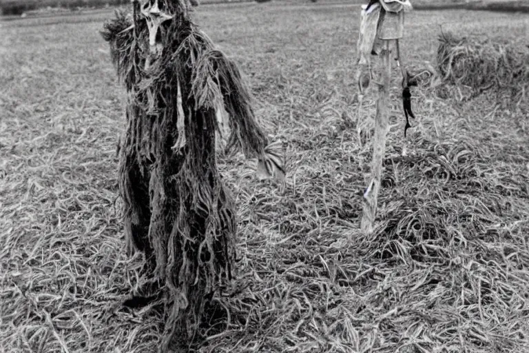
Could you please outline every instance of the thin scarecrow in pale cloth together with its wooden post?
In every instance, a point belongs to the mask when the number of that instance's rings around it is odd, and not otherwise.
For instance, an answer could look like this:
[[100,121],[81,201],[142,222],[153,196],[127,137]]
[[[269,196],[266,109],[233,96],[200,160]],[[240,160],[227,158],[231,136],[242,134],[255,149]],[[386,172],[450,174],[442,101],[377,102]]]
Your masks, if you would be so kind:
[[[386,150],[386,134],[388,130],[389,88],[391,85],[391,43],[395,46],[395,60],[402,72],[402,102],[406,116],[406,130],[410,127],[408,115],[415,118],[411,111],[410,87],[416,85],[402,64],[400,39],[404,37],[404,12],[411,10],[409,0],[370,0],[362,6],[360,34],[357,43],[357,83],[358,83],[358,119],[360,121],[362,97],[371,81],[377,83],[379,96],[375,116],[375,138],[373,141],[373,162],[368,187],[364,192],[364,214],[361,228],[365,233],[373,230],[373,222],[377,209],[377,196],[382,177],[382,160]],[[382,57],[382,80],[373,79],[371,57]],[[357,123],[357,127],[360,124]],[[360,135],[360,130],[359,130]]]

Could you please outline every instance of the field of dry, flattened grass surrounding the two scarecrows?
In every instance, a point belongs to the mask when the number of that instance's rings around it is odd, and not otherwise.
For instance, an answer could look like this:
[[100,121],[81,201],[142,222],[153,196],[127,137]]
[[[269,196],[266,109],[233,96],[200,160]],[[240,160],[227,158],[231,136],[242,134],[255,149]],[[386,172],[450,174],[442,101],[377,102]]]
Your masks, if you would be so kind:
[[[404,139],[395,68],[377,228],[360,234],[371,152],[354,128],[357,10],[196,10],[283,141],[289,180],[258,181],[255,161],[219,156],[238,263],[200,352],[529,352],[527,107],[425,86]],[[156,352],[160,341],[156,310],[120,305],[141,258],[125,255],[117,198],[124,90],[98,34],[110,17],[0,23],[2,353]],[[528,44],[526,14],[416,11],[403,44],[412,67],[435,65],[441,25]]]

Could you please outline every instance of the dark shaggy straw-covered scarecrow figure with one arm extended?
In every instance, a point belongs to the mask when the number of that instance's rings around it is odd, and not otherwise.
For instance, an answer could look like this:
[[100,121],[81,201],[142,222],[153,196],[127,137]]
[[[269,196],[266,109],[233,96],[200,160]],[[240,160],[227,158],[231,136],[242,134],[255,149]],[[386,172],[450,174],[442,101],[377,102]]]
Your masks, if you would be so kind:
[[[231,279],[234,202],[216,165],[216,112],[229,114],[227,148],[258,157],[282,178],[278,154],[256,124],[236,65],[189,18],[189,3],[133,1],[102,32],[127,89],[119,180],[127,248],[145,254],[163,284],[167,321],[160,351],[187,347],[207,299]],[[185,351],[185,348],[180,348]]]

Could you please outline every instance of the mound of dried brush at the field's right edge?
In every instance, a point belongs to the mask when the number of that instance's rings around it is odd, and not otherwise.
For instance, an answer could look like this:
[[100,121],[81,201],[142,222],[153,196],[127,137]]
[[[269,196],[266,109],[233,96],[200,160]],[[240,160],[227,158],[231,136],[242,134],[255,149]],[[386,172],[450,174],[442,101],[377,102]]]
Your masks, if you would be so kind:
[[466,86],[472,96],[486,90],[512,101],[527,99],[529,48],[477,37],[439,36],[437,65],[445,83]]

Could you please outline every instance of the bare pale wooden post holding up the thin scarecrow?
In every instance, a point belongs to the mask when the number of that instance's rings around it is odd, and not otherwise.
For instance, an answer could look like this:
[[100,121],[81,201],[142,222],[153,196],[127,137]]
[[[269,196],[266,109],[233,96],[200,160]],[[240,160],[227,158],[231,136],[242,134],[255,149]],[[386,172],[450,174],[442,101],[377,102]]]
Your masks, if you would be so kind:
[[388,104],[391,86],[391,52],[389,41],[384,41],[382,56],[382,84],[378,86],[377,112],[375,115],[375,139],[373,141],[373,161],[371,162],[371,177],[364,192],[362,233],[373,232],[373,223],[377,213],[377,198],[382,179],[382,161],[386,152],[386,135],[388,132]]

